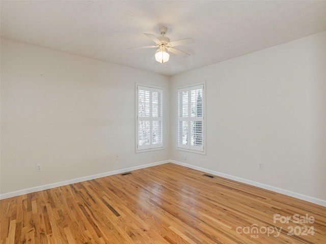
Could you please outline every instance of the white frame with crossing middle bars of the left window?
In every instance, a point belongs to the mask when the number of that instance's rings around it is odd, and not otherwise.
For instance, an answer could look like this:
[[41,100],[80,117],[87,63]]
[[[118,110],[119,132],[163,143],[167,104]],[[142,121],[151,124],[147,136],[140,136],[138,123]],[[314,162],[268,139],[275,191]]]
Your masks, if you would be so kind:
[[[139,121],[142,119],[139,119],[139,88],[143,88],[144,90],[149,90],[150,91],[150,98],[152,98],[152,93],[153,92],[160,92],[161,93],[161,116],[160,117],[153,117],[152,116],[152,106],[150,106],[150,116],[148,117],[149,120],[145,121],[161,121],[161,141],[162,143],[159,144],[153,144],[152,142],[152,132],[153,130],[150,131],[150,144],[145,145],[145,146],[140,146],[139,145]],[[154,151],[154,150],[162,150],[165,149],[165,143],[164,143],[164,117],[165,117],[165,112],[164,112],[164,96],[165,96],[165,89],[164,87],[161,86],[155,86],[155,85],[149,85],[149,84],[143,84],[143,83],[135,83],[135,153],[143,153],[146,151]],[[152,100],[150,101],[150,104],[152,105]],[[154,118],[154,119],[153,119]],[[158,119],[156,119],[158,118]],[[152,127],[151,127],[152,128]]]

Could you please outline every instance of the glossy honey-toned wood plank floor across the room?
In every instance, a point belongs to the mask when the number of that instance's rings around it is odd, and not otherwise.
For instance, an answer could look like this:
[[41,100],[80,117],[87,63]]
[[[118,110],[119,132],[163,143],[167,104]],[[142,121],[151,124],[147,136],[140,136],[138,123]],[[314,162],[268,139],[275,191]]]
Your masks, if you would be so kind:
[[326,243],[326,207],[203,174],[169,163],[3,199],[0,243]]

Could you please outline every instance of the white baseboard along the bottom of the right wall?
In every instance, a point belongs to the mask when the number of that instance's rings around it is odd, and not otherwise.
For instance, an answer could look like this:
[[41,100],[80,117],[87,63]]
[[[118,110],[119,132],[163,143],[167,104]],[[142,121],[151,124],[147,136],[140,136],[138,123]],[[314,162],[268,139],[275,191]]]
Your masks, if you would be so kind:
[[174,160],[171,160],[170,162],[174,163],[174,164],[177,164],[177,165],[187,167],[187,168],[196,169],[196,170],[199,170],[199,171],[203,171],[205,173],[214,174],[214,175],[221,176],[221,177],[227,178],[227,179],[232,179],[232,180],[244,183],[244,184],[248,184],[248,185],[251,185],[251,186],[259,187],[259,188],[269,190],[269,191],[273,191],[273,192],[277,192],[277,193],[281,193],[281,194],[284,194],[284,195],[287,195],[287,196],[290,196],[290,197],[295,197],[295,198],[298,198],[298,199],[301,199],[301,200],[305,200],[305,201],[312,202],[312,203],[315,203],[315,204],[326,207],[326,201],[322,200],[322,199],[306,196],[306,195],[303,195],[303,194],[300,194],[300,193],[291,192],[291,191],[284,190],[284,189],[277,188],[277,187],[268,186],[268,185],[261,184],[261,183],[256,182],[256,181],[243,179],[243,178],[236,177],[236,176],[233,176],[233,175],[224,174],[224,173],[220,173],[220,172],[209,170],[209,169],[204,169],[204,168],[201,168],[201,167],[181,163],[181,162],[174,161]]

